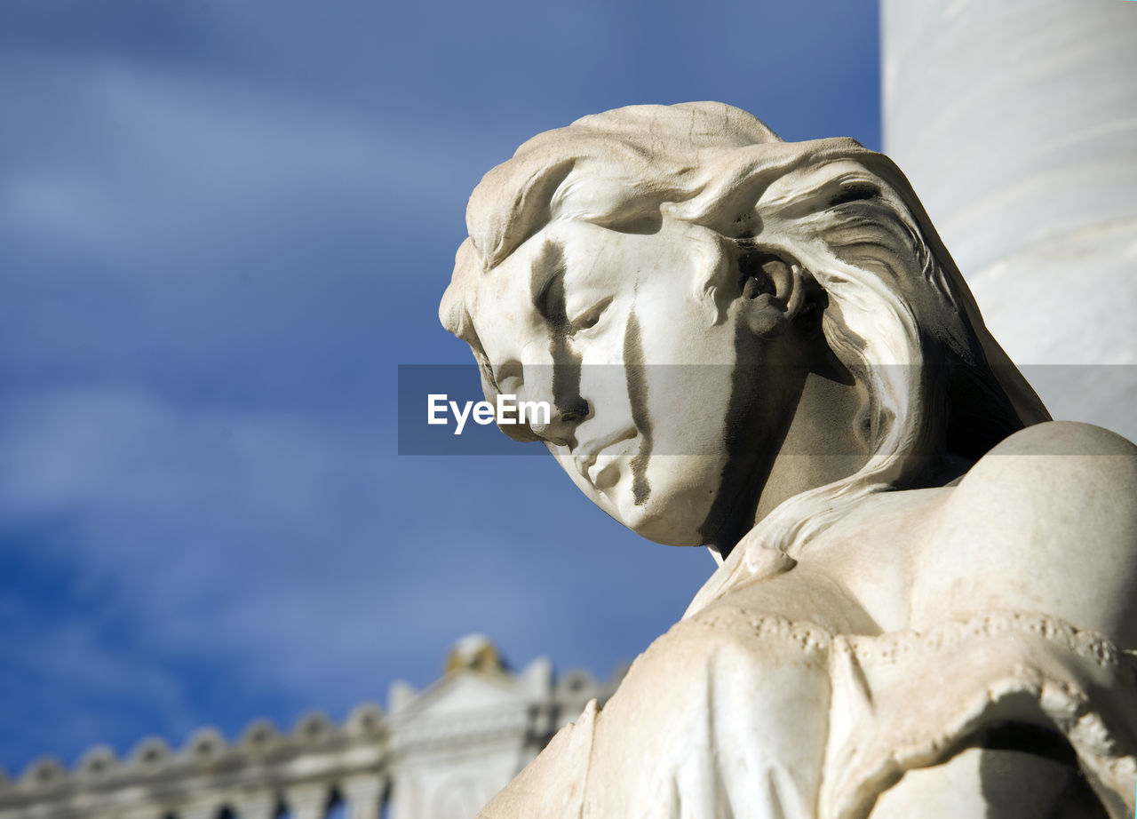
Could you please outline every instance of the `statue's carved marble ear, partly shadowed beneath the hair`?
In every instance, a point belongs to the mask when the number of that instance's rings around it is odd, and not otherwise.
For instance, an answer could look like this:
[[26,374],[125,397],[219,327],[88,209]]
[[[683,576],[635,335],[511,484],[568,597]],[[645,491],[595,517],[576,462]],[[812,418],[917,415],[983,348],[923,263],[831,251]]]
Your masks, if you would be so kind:
[[745,250],[739,259],[739,315],[755,336],[773,338],[808,312],[813,278],[796,259]]

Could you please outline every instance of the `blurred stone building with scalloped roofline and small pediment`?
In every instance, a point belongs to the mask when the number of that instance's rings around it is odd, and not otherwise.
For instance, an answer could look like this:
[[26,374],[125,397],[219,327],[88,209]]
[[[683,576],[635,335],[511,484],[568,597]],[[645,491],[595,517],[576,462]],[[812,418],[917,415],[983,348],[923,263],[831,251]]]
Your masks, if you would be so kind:
[[181,751],[148,738],[125,760],[100,746],[72,771],[39,760],[0,781],[0,819],[470,819],[621,676],[557,679],[546,659],[514,673],[474,635],[430,687],[391,686],[385,713],[309,714],[288,734],[258,720],[232,743],[202,728]]

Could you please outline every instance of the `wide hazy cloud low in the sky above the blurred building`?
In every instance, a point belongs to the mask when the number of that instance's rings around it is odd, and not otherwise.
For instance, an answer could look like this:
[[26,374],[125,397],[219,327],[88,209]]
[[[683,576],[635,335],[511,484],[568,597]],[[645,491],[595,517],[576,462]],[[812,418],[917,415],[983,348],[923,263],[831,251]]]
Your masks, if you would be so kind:
[[472,615],[504,639],[563,617],[503,553],[516,535],[424,520],[430,462],[358,430],[117,388],[17,399],[3,421],[0,521],[70,521],[38,559],[103,590],[156,655],[314,696],[433,664]]

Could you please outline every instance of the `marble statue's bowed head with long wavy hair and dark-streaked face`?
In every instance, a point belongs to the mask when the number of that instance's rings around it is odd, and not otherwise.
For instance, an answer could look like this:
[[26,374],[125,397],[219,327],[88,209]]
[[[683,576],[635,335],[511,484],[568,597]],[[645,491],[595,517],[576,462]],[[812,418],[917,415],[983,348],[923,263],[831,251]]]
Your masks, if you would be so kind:
[[503,430],[654,540],[749,529],[808,378],[858,408],[846,465],[763,516],[783,549],[1046,417],[903,174],[850,139],[782,142],[713,102],[620,108],[522,144],[466,222],[442,323],[489,399],[554,407]]

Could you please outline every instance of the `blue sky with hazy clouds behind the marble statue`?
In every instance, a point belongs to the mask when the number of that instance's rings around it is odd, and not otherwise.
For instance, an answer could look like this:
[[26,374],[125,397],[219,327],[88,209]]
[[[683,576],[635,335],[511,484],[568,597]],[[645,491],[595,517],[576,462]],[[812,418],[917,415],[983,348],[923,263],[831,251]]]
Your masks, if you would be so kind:
[[709,574],[546,457],[396,453],[470,190],[717,99],[879,148],[870,0],[0,5],[0,767],[334,719],[490,635],[606,677]]

